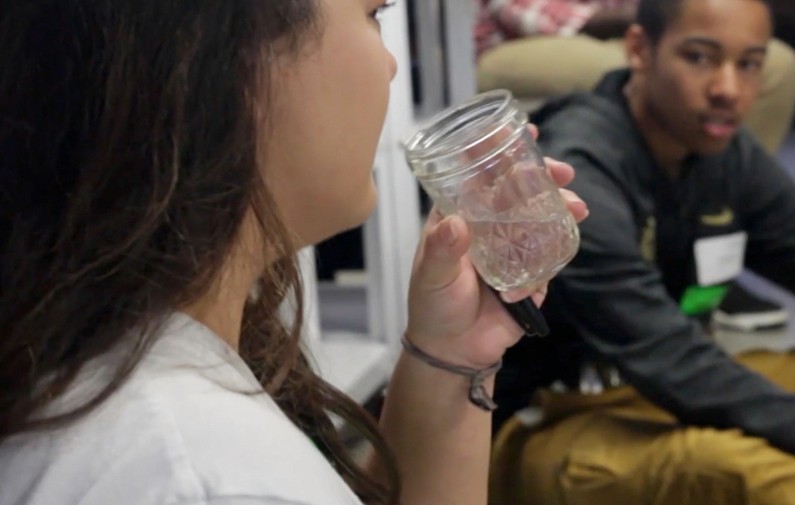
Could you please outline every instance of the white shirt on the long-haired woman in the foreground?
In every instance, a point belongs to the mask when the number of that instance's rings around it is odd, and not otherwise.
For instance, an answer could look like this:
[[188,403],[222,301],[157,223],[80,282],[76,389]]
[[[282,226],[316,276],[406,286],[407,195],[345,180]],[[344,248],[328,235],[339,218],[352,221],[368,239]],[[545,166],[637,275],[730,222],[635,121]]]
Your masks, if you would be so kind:
[[[96,390],[81,375],[63,404]],[[176,314],[124,386],[0,445],[0,505],[360,505],[224,341]]]

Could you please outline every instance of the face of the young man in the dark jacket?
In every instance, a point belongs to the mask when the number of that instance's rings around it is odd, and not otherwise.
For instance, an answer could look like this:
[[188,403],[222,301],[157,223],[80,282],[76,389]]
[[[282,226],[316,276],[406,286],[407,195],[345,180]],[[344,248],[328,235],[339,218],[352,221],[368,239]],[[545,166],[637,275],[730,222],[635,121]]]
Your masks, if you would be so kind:
[[759,93],[771,31],[759,0],[684,0],[646,52],[650,119],[687,152],[725,149]]

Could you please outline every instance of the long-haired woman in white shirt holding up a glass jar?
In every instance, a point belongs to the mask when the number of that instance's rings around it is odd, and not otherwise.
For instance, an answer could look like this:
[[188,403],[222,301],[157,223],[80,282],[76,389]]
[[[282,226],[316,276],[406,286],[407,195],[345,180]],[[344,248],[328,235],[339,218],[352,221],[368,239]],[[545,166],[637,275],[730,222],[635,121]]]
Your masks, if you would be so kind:
[[[295,251],[375,204],[385,7],[0,6],[0,503],[485,503],[490,416],[466,377],[401,356],[379,431],[308,367],[300,307],[278,315]],[[406,336],[485,369],[521,331],[468,242],[457,218],[426,227]]]

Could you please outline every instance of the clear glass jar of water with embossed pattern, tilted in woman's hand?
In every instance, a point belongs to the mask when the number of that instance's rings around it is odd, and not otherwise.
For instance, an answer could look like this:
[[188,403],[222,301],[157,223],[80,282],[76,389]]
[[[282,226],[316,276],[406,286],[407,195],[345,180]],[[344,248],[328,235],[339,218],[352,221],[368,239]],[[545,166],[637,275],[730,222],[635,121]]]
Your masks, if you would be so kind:
[[494,289],[535,289],[576,254],[577,223],[509,91],[439,113],[408,141],[406,159],[440,212],[466,221],[469,256]]

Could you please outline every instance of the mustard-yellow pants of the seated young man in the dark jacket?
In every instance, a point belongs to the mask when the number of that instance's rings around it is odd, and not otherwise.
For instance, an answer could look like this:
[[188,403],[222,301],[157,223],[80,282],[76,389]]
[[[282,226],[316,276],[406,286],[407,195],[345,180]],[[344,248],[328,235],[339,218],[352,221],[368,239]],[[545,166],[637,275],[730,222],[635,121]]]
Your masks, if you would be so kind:
[[[737,359],[795,391],[795,355]],[[765,440],[682,426],[630,387],[540,401],[540,424],[514,416],[497,436],[490,505],[795,504],[795,457]]]

